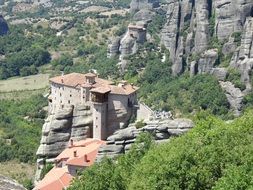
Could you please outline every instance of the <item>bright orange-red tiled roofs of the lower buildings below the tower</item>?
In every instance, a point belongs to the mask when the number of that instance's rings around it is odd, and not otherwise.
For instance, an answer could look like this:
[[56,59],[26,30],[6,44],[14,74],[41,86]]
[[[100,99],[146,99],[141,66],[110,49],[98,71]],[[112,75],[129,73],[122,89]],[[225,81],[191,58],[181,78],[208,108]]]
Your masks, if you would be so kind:
[[[73,142],[73,145],[66,148],[55,158],[56,162],[65,161],[62,168],[54,167],[44,179],[38,183],[36,190],[62,190],[69,186],[73,176],[68,171],[68,165],[88,167],[96,159],[98,149],[104,141],[88,138],[86,140]],[[76,153],[76,155],[74,154]]]

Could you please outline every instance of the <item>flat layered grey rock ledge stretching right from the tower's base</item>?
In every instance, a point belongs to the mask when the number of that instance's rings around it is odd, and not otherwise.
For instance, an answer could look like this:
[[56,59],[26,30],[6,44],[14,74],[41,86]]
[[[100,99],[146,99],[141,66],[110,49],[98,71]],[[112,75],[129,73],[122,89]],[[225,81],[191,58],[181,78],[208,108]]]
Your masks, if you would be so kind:
[[149,121],[146,126],[140,129],[137,129],[135,124],[132,124],[125,129],[116,131],[107,138],[106,145],[101,146],[99,149],[97,161],[100,161],[104,156],[112,158],[127,152],[142,132],[151,133],[156,142],[164,142],[171,137],[187,132],[193,126],[193,122],[189,119]]

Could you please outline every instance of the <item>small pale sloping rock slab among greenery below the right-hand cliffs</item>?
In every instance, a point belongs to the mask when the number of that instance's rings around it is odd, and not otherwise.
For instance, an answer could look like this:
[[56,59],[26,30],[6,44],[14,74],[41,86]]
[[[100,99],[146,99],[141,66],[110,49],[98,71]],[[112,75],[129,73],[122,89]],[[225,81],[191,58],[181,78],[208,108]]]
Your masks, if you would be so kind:
[[230,107],[234,111],[234,115],[239,116],[242,109],[242,100],[244,94],[239,88],[235,88],[231,82],[220,82],[220,85],[225,91]]

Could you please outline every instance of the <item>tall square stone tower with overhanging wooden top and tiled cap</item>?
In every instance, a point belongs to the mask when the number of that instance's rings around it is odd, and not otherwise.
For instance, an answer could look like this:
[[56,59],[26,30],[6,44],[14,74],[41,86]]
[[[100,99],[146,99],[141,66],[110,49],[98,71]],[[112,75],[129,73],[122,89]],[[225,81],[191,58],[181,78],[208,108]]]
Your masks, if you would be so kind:
[[93,138],[106,140],[107,138],[107,112],[109,88],[98,87],[92,89],[91,102],[93,105]]

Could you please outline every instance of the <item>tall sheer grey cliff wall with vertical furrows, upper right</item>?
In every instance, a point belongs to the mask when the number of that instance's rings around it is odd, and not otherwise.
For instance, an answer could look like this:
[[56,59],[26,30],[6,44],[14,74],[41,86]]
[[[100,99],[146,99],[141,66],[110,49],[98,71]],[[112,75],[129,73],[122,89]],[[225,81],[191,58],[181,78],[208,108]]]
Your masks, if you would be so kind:
[[[253,58],[252,16],[252,0],[167,0],[167,22],[161,37],[170,51],[173,73],[190,68],[196,55],[205,58],[206,51],[214,48],[214,40],[222,43],[225,55],[235,54],[233,66],[240,67],[242,56]],[[234,43],[235,34],[241,36],[241,45]],[[198,73],[198,66],[192,68]]]

